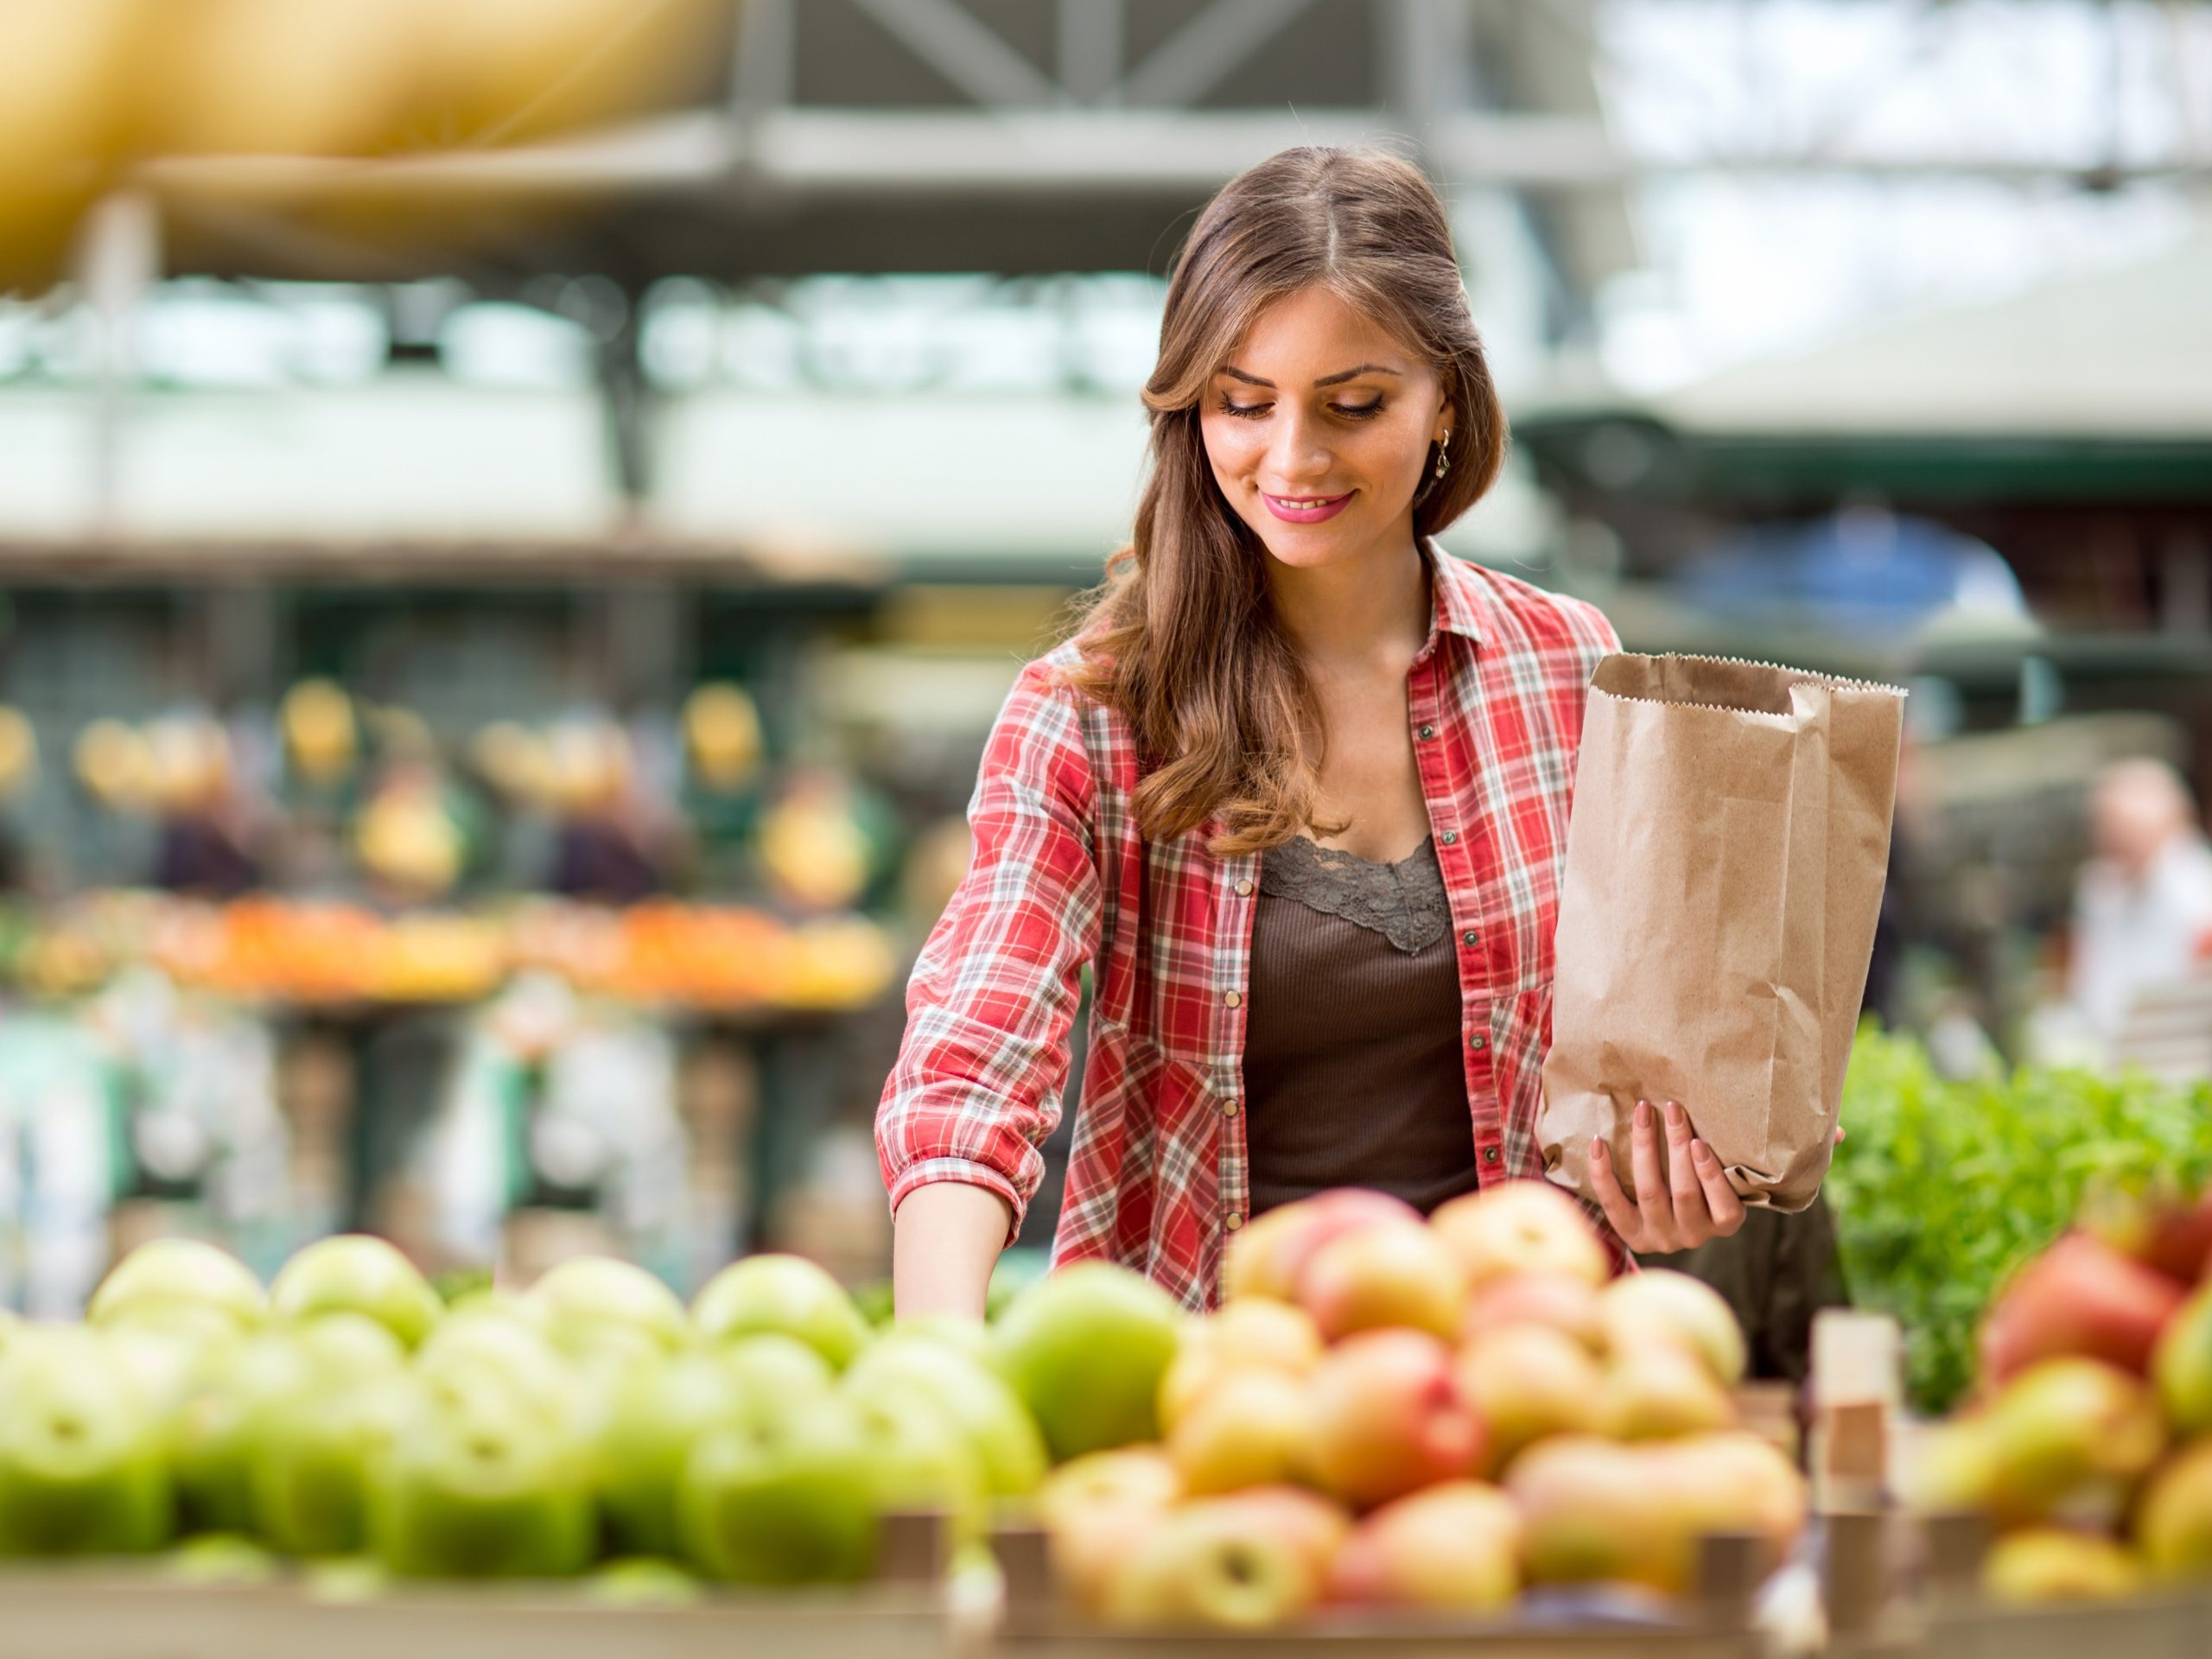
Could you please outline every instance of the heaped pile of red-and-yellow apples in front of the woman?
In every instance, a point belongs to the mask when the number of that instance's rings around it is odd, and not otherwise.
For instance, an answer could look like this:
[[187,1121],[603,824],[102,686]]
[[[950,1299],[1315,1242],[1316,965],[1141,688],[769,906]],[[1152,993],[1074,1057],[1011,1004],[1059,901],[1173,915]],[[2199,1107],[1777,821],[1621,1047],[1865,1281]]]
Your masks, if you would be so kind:
[[[1002,1323],[1026,1334],[1075,1272]],[[1526,1586],[1692,1586],[1699,1537],[1770,1566],[1805,1489],[1739,1425],[1743,1334],[1703,1283],[1610,1279],[1582,1208],[1540,1181],[1442,1206],[1340,1190],[1234,1237],[1223,1307],[1033,1389],[1055,1455],[1037,1498],[1055,1575],[1108,1624],[1276,1626],[1332,1608],[1493,1615]],[[1097,1411],[1119,1387],[1126,1416]],[[1064,1416],[1091,1411],[1071,1431]],[[1099,1449],[1102,1442],[1150,1444]]]

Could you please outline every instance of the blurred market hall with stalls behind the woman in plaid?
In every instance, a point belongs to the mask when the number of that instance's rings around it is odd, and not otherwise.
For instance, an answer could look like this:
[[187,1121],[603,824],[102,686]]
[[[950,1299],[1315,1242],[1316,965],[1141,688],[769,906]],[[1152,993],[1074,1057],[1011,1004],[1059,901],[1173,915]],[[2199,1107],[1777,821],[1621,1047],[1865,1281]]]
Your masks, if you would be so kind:
[[1455,217],[1453,553],[1911,688],[1911,1066],[2212,1071],[2212,914],[2077,982],[2212,787],[2212,4],[0,0],[0,1305],[161,1232],[880,1279],[984,728],[1301,142]]

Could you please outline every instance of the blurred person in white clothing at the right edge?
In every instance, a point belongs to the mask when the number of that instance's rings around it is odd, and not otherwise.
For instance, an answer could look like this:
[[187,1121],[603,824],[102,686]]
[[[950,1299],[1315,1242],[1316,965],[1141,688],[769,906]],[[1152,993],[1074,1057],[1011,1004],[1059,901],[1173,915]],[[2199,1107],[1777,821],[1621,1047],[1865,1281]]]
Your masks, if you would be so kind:
[[2181,774],[2117,761],[2090,796],[2090,858],[2075,880],[2068,995],[2110,1046],[2135,1000],[2212,962],[2212,845]]

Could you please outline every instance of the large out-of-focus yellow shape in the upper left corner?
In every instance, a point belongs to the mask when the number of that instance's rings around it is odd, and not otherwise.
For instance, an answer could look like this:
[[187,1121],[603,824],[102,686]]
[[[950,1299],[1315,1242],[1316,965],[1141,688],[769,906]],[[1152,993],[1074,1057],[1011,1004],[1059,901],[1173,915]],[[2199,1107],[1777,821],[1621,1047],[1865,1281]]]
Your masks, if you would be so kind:
[[[710,77],[712,0],[22,0],[0,7],[0,281],[42,283],[146,161],[345,159],[526,144]],[[465,215],[451,215],[465,223]],[[358,232],[392,204],[352,204]]]

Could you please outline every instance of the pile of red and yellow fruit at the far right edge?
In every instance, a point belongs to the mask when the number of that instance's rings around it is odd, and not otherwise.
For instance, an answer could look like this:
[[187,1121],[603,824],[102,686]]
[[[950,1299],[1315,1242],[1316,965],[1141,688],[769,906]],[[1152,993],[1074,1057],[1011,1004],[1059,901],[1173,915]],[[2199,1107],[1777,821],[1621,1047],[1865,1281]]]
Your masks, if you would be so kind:
[[1984,1515],[2004,1601],[2212,1579],[2212,1199],[2099,1199],[2013,1274],[1980,1385],[1900,1471],[1922,1511]]

